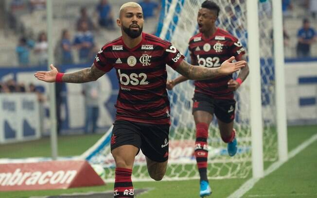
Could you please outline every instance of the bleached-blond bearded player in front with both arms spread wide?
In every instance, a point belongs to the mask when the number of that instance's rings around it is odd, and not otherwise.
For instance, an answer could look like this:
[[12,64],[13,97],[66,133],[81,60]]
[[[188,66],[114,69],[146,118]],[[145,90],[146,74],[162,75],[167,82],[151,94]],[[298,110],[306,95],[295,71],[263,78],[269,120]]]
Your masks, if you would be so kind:
[[51,71],[35,73],[37,79],[45,82],[83,83],[96,81],[113,67],[116,69],[120,90],[110,141],[116,163],[115,198],[134,197],[131,174],[140,149],[152,179],[159,181],[166,172],[170,127],[166,64],[194,80],[229,75],[246,64],[231,63],[234,57],[230,57],[216,69],[192,66],[183,61],[184,56],[171,43],[142,33],[143,22],[141,6],[125,3],[117,19],[122,36],[107,43],[90,68],[59,73],[51,65]]

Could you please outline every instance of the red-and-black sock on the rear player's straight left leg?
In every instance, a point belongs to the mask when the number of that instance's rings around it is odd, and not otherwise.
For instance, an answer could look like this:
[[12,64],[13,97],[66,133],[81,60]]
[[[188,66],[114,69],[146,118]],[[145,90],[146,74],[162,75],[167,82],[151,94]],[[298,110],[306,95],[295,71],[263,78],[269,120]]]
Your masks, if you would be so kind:
[[196,124],[196,142],[195,142],[195,157],[197,168],[200,175],[200,181],[207,179],[207,159],[208,159],[208,124]]

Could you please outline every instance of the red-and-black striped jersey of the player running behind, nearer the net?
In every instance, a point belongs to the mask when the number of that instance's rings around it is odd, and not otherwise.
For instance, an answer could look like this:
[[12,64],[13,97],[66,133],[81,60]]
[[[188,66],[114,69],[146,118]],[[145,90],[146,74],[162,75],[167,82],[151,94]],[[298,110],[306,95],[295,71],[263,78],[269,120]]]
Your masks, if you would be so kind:
[[[194,65],[206,67],[219,67],[231,56],[239,59],[245,54],[239,40],[220,28],[208,39],[202,33],[194,35],[188,48]],[[232,75],[195,81],[195,92],[211,95],[215,99],[233,99],[233,92],[228,89],[230,79]]]

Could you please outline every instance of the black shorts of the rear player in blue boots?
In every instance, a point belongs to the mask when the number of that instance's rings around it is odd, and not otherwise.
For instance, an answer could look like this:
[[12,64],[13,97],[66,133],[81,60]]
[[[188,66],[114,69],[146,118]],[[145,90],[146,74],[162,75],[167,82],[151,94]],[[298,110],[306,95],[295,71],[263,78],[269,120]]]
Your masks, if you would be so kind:
[[214,99],[210,95],[194,93],[193,114],[195,111],[205,111],[215,114],[216,117],[225,123],[234,120],[235,103],[234,99]]

